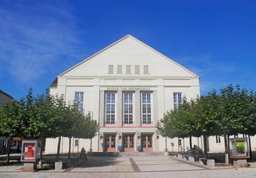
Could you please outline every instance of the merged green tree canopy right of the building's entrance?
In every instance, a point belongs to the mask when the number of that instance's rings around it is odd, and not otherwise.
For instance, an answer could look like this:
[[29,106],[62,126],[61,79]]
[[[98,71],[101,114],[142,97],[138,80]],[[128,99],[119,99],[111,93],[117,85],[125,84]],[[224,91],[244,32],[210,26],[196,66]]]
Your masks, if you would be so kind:
[[238,133],[255,135],[256,93],[229,85],[189,102],[184,98],[182,105],[164,113],[157,129],[162,136],[170,138],[223,135],[226,139]]

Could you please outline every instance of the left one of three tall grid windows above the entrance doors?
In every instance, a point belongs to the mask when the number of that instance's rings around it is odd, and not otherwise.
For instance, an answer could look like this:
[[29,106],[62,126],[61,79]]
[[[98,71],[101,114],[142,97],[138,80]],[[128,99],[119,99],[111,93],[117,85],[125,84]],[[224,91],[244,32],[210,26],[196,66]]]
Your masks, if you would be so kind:
[[106,124],[114,124],[116,116],[116,94],[106,93]]

